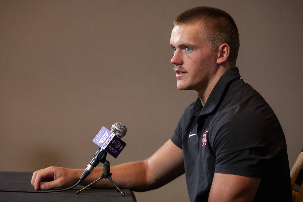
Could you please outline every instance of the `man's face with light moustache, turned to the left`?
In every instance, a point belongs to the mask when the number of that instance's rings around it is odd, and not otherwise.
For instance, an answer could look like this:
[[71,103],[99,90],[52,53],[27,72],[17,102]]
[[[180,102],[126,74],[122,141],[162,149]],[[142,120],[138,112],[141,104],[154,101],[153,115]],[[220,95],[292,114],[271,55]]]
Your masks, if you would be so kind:
[[211,50],[201,31],[201,24],[176,25],[170,44],[174,51],[171,64],[179,90],[205,91],[217,70],[217,53]]

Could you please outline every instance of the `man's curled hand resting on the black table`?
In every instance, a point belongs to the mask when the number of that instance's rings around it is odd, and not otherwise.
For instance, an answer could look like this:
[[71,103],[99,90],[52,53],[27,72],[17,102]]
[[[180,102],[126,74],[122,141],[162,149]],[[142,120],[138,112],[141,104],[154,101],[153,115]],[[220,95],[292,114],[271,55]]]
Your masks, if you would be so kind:
[[[79,180],[79,173],[82,174],[81,170],[78,169],[47,167],[33,173],[32,186],[35,190],[71,187]],[[40,185],[42,181],[46,182]]]

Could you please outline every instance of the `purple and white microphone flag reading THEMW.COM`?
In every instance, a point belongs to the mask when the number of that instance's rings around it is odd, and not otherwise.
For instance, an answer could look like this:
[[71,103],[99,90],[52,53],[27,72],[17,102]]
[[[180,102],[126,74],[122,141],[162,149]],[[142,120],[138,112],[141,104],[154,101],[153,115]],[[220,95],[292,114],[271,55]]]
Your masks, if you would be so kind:
[[102,127],[93,143],[104,149],[108,154],[117,158],[120,152],[124,149],[126,143],[117,137],[112,131]]

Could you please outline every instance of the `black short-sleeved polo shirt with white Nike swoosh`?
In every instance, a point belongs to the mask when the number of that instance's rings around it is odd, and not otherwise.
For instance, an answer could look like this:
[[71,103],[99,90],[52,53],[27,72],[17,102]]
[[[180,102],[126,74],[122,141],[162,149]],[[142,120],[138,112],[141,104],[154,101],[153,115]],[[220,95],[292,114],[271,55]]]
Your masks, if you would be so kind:
[[204,107],[198,98],[185,109],[171,141],[183,150],[191,202],[207,201],[215,172],[261,178],[254,201],[291,201],[281,125],[238,68],[219,79]]

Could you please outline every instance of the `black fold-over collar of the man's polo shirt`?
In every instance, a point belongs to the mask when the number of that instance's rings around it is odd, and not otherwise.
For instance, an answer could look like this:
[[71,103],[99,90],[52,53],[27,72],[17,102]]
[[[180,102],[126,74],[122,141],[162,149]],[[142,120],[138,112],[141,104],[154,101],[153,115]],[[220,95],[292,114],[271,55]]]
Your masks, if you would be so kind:
[[222,75],[215,87],[212,89],[211,93],[209,94],[209,97],[207,98],[204,106],[202,106],[200,98],[197,98],[192,108],[193,114],[197,116],[211,113],[220,101],[220,98],[222,97],[222,94],[227,84],[236,78],[240,79],[240,73],[237,67],[231,68],[228,72]]

